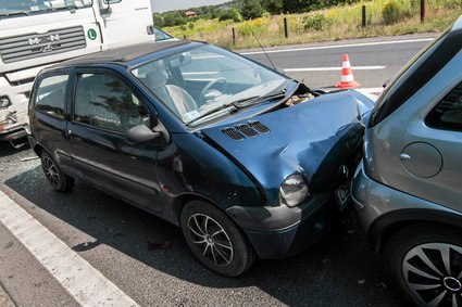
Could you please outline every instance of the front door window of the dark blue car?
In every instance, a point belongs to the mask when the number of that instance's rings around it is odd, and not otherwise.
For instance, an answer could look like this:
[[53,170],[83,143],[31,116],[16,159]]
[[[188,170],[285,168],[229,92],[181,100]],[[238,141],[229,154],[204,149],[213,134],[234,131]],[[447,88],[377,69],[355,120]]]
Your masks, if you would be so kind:
[[150,126],[148,108],[121,80],[104,74],[78,76],[74,120],[117,132]]

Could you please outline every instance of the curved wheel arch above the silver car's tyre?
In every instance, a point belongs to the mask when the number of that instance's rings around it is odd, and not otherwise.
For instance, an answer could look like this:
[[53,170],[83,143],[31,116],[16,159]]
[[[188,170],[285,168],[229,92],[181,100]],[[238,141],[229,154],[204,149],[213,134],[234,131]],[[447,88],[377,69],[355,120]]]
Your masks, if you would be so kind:
[[382,254],[389,239],[399,230],[422,223],[462,230],[462,214],[438,209],[401,209],[388,213],[370,227],[369,239],[374,252]]

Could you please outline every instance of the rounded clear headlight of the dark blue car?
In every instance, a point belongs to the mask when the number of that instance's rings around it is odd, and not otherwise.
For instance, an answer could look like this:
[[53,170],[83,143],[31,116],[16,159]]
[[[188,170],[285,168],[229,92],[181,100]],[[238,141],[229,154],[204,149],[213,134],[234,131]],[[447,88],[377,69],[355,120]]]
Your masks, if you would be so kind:
[[280,202],[289,207],[300,205],[310,195],[307,182],[300,175],[290,175],[279,188]]

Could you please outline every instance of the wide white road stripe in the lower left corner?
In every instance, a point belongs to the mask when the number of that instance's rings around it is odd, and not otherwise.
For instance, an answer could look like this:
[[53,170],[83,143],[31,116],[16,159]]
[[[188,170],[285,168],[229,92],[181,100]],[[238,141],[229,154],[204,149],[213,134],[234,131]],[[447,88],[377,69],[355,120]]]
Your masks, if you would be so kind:
[[138,306],[100,271],[1,191],[0,222],[82,306]]

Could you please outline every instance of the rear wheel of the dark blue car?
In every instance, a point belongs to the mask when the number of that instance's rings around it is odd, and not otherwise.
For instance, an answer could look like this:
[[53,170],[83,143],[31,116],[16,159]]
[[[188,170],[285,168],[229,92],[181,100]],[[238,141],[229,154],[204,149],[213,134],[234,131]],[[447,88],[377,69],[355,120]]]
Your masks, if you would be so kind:
[[74,186],[74,178],[65,175],[54,158],[46,151],[41,152],[41,168],[50,186],[58,192],[67,192]]

